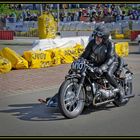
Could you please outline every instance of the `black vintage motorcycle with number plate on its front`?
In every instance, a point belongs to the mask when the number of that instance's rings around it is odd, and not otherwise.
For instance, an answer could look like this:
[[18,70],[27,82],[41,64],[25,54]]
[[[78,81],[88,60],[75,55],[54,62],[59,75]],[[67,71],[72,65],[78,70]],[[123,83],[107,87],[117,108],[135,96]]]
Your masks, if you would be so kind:
[[71,64],[57,95],[58,107],[66,118],[77,117],[86,106],[92,105],[94,108],[106,106],[109,103],[122,106],[134,97],[132,94],[133,73],[122,59],[119,61],[119,68],[114,76],[123,88],[125,95],[123,102],[120,101],[119,94],[113,92],[113,87],[105,77],[98,75],[95,69],[93,64],[83,58]]

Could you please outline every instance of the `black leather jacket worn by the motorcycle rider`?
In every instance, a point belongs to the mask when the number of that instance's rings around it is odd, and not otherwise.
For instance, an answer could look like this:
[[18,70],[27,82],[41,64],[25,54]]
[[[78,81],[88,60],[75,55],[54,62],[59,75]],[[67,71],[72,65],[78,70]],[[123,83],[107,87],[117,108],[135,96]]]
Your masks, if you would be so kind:
[[117,55],[111,41],[96,45],[95,39],[91,40],[80,57],[92,61],[95,65],[111,65],[117,61]]

